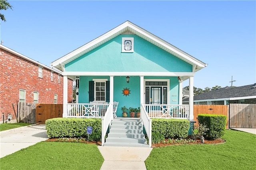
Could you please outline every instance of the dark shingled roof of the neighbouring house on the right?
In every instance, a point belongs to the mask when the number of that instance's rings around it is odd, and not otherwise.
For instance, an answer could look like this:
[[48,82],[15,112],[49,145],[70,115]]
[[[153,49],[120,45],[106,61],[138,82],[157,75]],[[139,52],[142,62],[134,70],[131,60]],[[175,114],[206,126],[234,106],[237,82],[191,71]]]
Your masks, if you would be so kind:
[[[220,101],[256,98],[256,83],[240,87],[224,87],[194,96],[194,101]],[[188,101],[188,99],[184,99]]]

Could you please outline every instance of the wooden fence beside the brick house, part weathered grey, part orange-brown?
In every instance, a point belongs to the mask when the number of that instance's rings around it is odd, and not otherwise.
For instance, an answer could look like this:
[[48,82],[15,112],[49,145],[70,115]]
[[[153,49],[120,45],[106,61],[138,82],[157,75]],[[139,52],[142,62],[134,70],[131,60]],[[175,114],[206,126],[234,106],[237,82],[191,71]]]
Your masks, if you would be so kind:
[[47,119],[62,114],[63,104],[18,103],[18,122],[45,124]]

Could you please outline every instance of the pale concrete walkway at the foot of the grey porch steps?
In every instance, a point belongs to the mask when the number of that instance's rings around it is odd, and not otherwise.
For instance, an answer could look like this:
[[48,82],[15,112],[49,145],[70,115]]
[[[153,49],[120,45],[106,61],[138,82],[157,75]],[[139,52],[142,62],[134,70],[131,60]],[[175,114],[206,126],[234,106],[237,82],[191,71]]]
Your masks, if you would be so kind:
[[98,146],[104,158],[101,170],[146,170],[144,161],[152,148]]

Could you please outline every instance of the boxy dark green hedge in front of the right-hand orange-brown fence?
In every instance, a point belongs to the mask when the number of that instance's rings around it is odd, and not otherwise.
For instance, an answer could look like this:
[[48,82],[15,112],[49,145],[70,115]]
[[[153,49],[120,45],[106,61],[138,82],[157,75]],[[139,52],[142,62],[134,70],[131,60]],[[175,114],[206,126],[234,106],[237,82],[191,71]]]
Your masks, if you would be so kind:
[[209,130],[206,131],[206,137],[210,139],[220,138],[224,135],[226,122],[227,116],[225,115],[198,115],[198,123],[201,125],[206,125],[206,128],[209,128]]

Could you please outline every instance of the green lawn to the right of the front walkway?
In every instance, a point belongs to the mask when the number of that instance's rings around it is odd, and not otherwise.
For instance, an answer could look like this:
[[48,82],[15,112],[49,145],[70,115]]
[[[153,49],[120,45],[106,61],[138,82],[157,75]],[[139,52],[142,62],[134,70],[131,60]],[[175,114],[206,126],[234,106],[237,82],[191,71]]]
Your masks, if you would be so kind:
[[183,144],[154,148],[148,170],[254,170],[256,135],[226,130],[224,144]]

